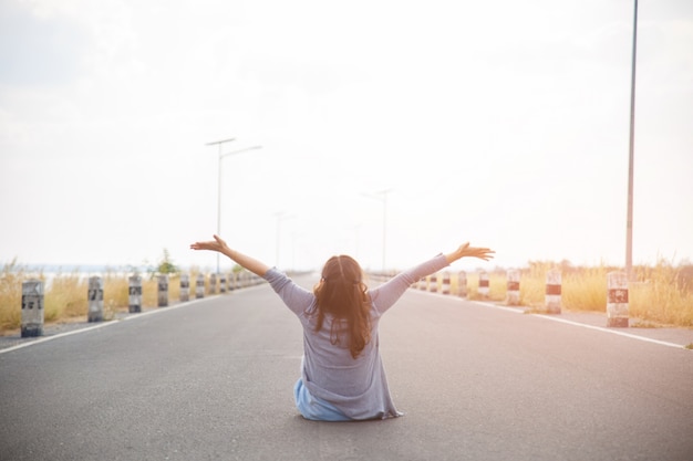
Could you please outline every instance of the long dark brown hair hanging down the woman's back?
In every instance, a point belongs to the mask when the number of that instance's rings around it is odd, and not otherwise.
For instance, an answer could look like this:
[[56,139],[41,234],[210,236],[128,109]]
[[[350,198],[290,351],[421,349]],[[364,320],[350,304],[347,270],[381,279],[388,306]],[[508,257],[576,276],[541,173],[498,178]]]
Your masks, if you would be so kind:
[[313,293],[318,305],[316,332],[322,328],[325,314],[330,314],[330,342],[337,345],[346,335],[351,356],[356,358],[371,340],[371,306],[361,266],[351,256],[330,258]]

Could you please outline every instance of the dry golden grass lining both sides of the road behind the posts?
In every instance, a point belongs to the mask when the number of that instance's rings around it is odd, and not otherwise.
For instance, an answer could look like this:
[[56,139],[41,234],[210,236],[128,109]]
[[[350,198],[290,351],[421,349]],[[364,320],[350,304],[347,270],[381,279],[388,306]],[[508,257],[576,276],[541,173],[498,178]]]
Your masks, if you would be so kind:
[[[237,271],[240,268],[235,268]],[[563,311],[604,312],[607,306],[607,273],[618,270],[607,265],[577,268],[563,261],[529,262],[520,270],[520,305],[541,311],[545,305],[546,273],[559,269],[562,275],[561,308]],[[208,273],[209,271],[201,271]],[[143,308],[157,305],[158,274],[168,274],[168,297],[172,303],[179,298],[180,270],[164,250],[161,261],[142,276]],[[199,268],[186,271],[190,281],[190,297],[195,296],[195,280]],[[632,326],[681,326],[693,327],[693,265],[674,266],[660,261],[654,266],[634,268],[637,282],[629,287],[630,317],[638,319]],[[117,312],[127,312],[128,276],[123,273],[106,271],[103,277],[104,315],[113,318]],[[48,280],[42,272],[30,272],[25,266],[12,261],[0,272],[0,335],[17,334],[21,326],[22,282],[40,279],[45,284],[45,323],[84,322],[87,312],[89,277],[79,270],[58,273]],[[206,283],[208,277],[206,277]],[[496,269],[489,272],[490,302],[504,303],[506,300],[506,271]],[[457,276],[451,277],[451,289],[457,290]],[[205,287],[207,293],[208,286]],[[467,273],[467,294],[472,300],[482,300],[478,293],[478,273]]]

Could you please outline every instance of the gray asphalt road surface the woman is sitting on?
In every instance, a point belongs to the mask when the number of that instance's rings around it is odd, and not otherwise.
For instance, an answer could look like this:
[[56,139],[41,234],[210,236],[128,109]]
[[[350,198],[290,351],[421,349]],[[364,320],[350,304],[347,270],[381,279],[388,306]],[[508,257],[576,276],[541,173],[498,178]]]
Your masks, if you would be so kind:
[[693,460],[693,350],[410,290],[405,416],[334,423],[293,406],[301,346],[260,285],[6,349],[0,460]]

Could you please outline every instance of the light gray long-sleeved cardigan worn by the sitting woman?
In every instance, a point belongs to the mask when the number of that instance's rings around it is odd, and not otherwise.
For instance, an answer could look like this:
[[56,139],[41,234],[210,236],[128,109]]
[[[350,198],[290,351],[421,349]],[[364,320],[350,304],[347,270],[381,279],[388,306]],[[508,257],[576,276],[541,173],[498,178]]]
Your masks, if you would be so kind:
[[303,326],[303,360],[301,378],[314,397],[327,400],[352,419],[401,416],[390,396],[387,378],[379,350],[380,317],[421,277],[447,265],[443,254],[401,272],[382,285],[370,290],[371,340],[355,359],[348,344],[330,342],[330,317],[316,332],[316,296],[297,285],[285,273],[270,269],[265,279]]

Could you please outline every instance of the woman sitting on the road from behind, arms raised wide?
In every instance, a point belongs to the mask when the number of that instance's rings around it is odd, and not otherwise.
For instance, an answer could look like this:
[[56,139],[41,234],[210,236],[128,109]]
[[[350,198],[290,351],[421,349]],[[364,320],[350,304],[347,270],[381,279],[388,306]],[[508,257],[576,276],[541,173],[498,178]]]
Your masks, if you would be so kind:
[[301,378],[294,386],[296,406],[307,419],[351,421],[402,416],[390,396],[379,350],[380,317],[421,277],[433,274],[461,258],[485,261],[487,248],[461,245],[401,272],[369,290],[359,263],[350,256],[328,260],[320,282],[310,292],[276,268],[257,261],[214,235],[196,242],[193,250],[218,251],[248,271],[265,277],[303,326]]

